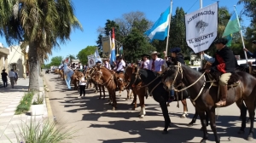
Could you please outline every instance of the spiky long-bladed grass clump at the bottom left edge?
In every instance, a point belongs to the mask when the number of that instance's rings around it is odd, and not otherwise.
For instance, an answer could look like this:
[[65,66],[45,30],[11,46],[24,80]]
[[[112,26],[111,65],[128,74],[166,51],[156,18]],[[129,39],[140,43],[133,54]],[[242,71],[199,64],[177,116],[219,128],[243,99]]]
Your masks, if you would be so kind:
[[[15,130],[14,130],[15,132]],[[31,119],[29,123],[22,122],[18,132],[15,132],[17,142],[26,143],[60,143],[64,140],[71,140],[77,130],[67,128],[64,125],[57,125],[48,119],[36,121]]]

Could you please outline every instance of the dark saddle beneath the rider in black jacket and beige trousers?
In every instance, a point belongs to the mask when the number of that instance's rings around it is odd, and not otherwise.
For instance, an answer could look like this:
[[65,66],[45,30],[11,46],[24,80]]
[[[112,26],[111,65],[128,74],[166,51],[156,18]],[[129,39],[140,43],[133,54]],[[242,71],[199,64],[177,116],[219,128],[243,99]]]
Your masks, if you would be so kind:
[[[212,73],[207,73],[207,77],[210,79],[210,81],[214,81],[212,83],[212,86],[218,86],[219,77],[221,76],[221,73],[216,71]],[[228,87],[236,87],[241,82],[241,77],[236,73],[232,73],[230,76],[230,80],[228,81]]]

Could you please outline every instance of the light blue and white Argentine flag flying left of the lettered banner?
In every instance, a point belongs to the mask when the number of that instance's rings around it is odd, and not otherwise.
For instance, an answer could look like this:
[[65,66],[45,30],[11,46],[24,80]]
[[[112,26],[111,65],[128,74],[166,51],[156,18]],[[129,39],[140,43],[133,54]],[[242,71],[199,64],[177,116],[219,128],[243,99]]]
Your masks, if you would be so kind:
[[166,9],[166,11],[161,14],[160,18],[154,23],[151,29],[145,31],[145,35],[148,36],[150,42],[154,39],[157,40],[165,40],[168,34],[168,25],[170,23],[170,9]]

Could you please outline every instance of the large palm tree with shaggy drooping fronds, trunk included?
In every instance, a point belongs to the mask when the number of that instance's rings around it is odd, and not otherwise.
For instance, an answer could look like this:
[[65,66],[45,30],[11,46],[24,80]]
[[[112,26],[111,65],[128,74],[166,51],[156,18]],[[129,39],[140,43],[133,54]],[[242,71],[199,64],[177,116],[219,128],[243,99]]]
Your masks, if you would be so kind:
[[38,90],[38,60],[65,43],[72,29],[82,30],[73,4],[71,0],[1,0],[0,9],[5,9],[0,11],[0,34],[7,43],[29,45],[29,89]]

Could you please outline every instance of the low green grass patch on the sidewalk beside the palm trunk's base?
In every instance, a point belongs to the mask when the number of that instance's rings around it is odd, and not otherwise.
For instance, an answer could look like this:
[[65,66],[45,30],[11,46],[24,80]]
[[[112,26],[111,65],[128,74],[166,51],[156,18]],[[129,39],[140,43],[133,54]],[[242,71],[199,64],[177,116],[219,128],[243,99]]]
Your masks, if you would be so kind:
[[22,100],[20,100],[19,106],[17,106],[16,108],[15,115],[19,115],[29,111],[30,106],[32,104],[33,95],[34,95],[33,92],[28,92],[22,97]]

